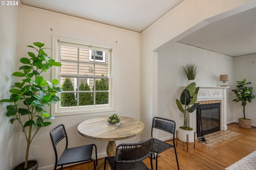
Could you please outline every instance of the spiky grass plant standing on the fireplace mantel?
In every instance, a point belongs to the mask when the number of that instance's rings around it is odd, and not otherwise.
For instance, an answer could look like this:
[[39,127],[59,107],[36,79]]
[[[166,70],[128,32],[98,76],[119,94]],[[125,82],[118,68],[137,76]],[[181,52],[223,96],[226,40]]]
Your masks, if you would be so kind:
[[196,78],[196,75],[200,71],[200,68],[197,64],[188,63],[185,66],[182,66],[182,70],[188,80],[194,80]]

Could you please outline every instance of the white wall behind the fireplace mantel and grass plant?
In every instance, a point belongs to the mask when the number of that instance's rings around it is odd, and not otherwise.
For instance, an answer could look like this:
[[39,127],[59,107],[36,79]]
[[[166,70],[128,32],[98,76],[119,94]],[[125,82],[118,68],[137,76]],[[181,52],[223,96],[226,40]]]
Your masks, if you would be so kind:
[[[229,74],[227,90],[227,120],[233,118],[234,58],[212,51],[174,43],[158,52],[158,116],[172,119],[177,126],[183,125],[183,114],[176,106],[180,98],[181,86],[188,85],[182,72],[186,63],[196,63],[201,71],[196,77],[196,86],[219,86],[219,75]],[[163,138],[158,134],[159,138]],[[166,139],[167,140],[167,139]]]

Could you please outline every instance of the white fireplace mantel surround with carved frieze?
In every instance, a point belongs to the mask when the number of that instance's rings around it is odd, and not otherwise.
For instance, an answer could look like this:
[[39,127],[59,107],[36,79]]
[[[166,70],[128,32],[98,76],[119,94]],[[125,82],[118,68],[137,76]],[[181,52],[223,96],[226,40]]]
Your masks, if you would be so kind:
[[[182,86],[184,89],[185,86]],[[220,130],[227,130],[227,89],[224,86],[202,86],[199,89],[197,102],[220,100]],[[196,111],[190,115],[190,125],[196,132]]]

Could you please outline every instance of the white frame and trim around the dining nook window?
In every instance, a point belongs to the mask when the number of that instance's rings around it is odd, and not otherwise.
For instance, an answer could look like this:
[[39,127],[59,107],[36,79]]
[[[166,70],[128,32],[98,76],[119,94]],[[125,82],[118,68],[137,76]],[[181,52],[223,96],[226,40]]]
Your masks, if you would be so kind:
[[[86,114],[86,113],[99,113],[99,112],[107,112],[107,111],[115,111],[115,87],[114,87],[114,74],[113,74],[113,63],[114,63],[114,53],[116,51],[116,47],[113,45],[101,45],[99,43],[91,43],[91,42],[84,42],[74,39],[67,39],[63,37],[55,37],[53,36],[52,44],[54,45],[52,47],[53,51],[55,53],[52,53],[53,59],[56,62],[61,62],[60,55],[60,45],[59,43],[67,43],[67,45],[70,45],[73,43],[74,47],[81,47],[85,48],[85,46],[91,49],[102,51],[102,48],[106,48],[110,50],[109,56],[108,56],[108,83],[109,83],[109,104],[104,105],[96,105],[96,106],[73,106],[73,107],[60,107],[60,102],[57,104],[51,104],[51,115],[54,116],[63,116],[63,115],[76,115],[76,114]],[[91,44],[91,45],[89,45]],[[94,45],[94,47],[92,47]],[[97,46],[99,48],[97,48]],[[52,67],[52,79],[56,78],[60,81],[60,70],[61,67]],[[70,77],[70,76],[68,76]],[[101,78],[101,76],[99,77]],[[60,86],[60,83],[58,84]],[[102,92],[102,91],[101,91]],[[57,94],[59,97],[60,95]]]

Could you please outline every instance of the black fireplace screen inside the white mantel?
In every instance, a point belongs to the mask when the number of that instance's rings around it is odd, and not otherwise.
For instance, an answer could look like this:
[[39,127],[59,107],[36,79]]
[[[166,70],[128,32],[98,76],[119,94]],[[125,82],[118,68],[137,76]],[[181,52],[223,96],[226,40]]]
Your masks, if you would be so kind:
[[[197,113],[201,114],[203,134],[220,131],[220,103],[200,104]],[[199,117],[196,114],[196,133],[200,134]]]

